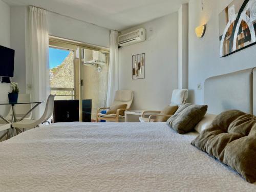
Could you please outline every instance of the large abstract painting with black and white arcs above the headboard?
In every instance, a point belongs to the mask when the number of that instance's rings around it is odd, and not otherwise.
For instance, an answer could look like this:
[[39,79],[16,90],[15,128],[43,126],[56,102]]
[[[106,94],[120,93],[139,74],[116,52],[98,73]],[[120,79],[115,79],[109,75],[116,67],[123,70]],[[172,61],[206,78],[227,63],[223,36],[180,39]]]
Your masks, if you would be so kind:
[[234,0],[219,15],[220,56],[256,44],[256,0]]

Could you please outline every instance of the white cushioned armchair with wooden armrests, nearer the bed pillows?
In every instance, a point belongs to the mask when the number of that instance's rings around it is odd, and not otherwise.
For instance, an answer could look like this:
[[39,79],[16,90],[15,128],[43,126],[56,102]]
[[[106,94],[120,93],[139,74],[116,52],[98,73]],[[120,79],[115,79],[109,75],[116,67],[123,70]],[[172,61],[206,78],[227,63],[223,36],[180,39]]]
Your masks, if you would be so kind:
[[[170,106],[174,105],[182,105],[185,104],[188,98],[188,90],[182,89],[182,90],[174,90],[172,94],[172,99],[170,100]],[[156,115],[150,115],[149,118],[145,118],[146,115],[152,114],[152,113],[158,113]],[[161,111],[144,111],[141,115],[140,122],[154,122],[153,118],[156,117],[171,117],[172,115],[159,115]]]

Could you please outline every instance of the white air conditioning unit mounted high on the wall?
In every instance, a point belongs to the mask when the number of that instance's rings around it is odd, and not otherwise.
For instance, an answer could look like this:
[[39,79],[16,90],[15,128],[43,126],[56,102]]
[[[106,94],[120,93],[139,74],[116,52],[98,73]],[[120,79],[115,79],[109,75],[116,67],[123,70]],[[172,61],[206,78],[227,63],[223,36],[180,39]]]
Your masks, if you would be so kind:
[[118,37],[118,45],[120,47],[130,46],[142,41],[145,41],[145,29],[143,28]]

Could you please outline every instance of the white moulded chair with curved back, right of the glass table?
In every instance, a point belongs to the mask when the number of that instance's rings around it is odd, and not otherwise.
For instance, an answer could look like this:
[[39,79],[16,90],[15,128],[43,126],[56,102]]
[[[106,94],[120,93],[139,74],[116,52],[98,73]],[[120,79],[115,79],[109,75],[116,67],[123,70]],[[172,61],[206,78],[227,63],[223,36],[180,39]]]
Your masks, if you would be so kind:
[[[48,97],[45,112],[41,116],[40,119],[38,119],[38,120],[23,119],[22,121],[12,123],[12,126],[16,129],[16,131],[22,132],[19,129],[24,129],[24,130],[32,129],[41,123],[48,122],[48,119],[50,119],[53,114],[54,97],[55,97],[55,95],[50,95]],[[48,123],[50,124],[50,122],[48,122]]]

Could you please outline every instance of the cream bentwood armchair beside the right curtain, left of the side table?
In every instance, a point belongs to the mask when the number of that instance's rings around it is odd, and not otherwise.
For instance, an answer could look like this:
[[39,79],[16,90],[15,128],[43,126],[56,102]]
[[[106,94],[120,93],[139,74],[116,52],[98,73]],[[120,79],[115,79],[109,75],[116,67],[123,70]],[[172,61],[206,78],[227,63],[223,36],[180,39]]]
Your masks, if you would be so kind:
[[121,114],[124,111],[130,110],[132,102],[133,102],[133,97],[134,97],[133,91],[129,91],[129,90],[116,91],[115,100],[112,103],[112,106],[127,104],[126,109],[118,109],[116,114],[106,115],[106,114],[100,113],[100,111],[104,110],[104,109],[110,109],[110,107],[109,108],[99,108],[97,111],[96,122],[98,122],[99,120],[119,122],[120,119],[124,119],[124,116],[119,115],[119,114]]

